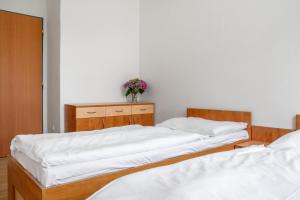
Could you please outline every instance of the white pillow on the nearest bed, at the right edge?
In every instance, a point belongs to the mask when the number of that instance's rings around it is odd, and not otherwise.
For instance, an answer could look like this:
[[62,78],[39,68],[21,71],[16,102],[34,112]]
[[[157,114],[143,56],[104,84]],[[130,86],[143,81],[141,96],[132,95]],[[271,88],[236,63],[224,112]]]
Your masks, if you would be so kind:
[[268,145],[274,149],[300,149],[300,130],[286,134]]

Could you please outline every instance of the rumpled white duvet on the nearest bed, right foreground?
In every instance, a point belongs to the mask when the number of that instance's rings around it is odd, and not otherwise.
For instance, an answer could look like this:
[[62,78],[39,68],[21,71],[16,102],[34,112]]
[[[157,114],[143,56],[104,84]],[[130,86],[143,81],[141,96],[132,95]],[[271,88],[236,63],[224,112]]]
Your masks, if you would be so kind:
[[300,149],[212,154],[115,180],[89,200],[299,200]]

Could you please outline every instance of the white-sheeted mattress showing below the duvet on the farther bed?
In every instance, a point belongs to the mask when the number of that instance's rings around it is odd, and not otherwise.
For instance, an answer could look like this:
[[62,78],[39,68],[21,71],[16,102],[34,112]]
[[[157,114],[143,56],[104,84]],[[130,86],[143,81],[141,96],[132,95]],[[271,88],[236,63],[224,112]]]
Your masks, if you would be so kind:
[[42,186],[51,187],[153,162],[159,162],[176,156],[216,148],[248,138],[249,136],[247,131],[240,131],[209,137],[205,140],[193,141],[165,149],[151,150],[142,153],[114,157],[111,159],[108,158],[82,163],[65,164],[47,168],[41,166],[40,163],[37,163],[20,151],[15,152],[13,157],[28,172],[30,172]]

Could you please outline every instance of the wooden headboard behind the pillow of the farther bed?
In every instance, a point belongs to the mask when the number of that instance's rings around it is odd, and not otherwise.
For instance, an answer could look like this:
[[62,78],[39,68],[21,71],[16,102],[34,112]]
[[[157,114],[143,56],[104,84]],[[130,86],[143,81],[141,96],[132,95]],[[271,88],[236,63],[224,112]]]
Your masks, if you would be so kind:
[[251,112],[188,108],[187,117],[201,117],[216,121],[246,122],[248,124],[247,131],[251,135]]

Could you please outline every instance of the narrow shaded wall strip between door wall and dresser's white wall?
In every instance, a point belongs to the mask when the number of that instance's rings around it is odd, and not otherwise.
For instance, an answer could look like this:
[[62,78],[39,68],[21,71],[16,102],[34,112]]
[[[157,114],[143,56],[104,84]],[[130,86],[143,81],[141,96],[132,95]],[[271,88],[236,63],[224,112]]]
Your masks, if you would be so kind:
[[60,0],[47,0],[48,131],[60,132]]

